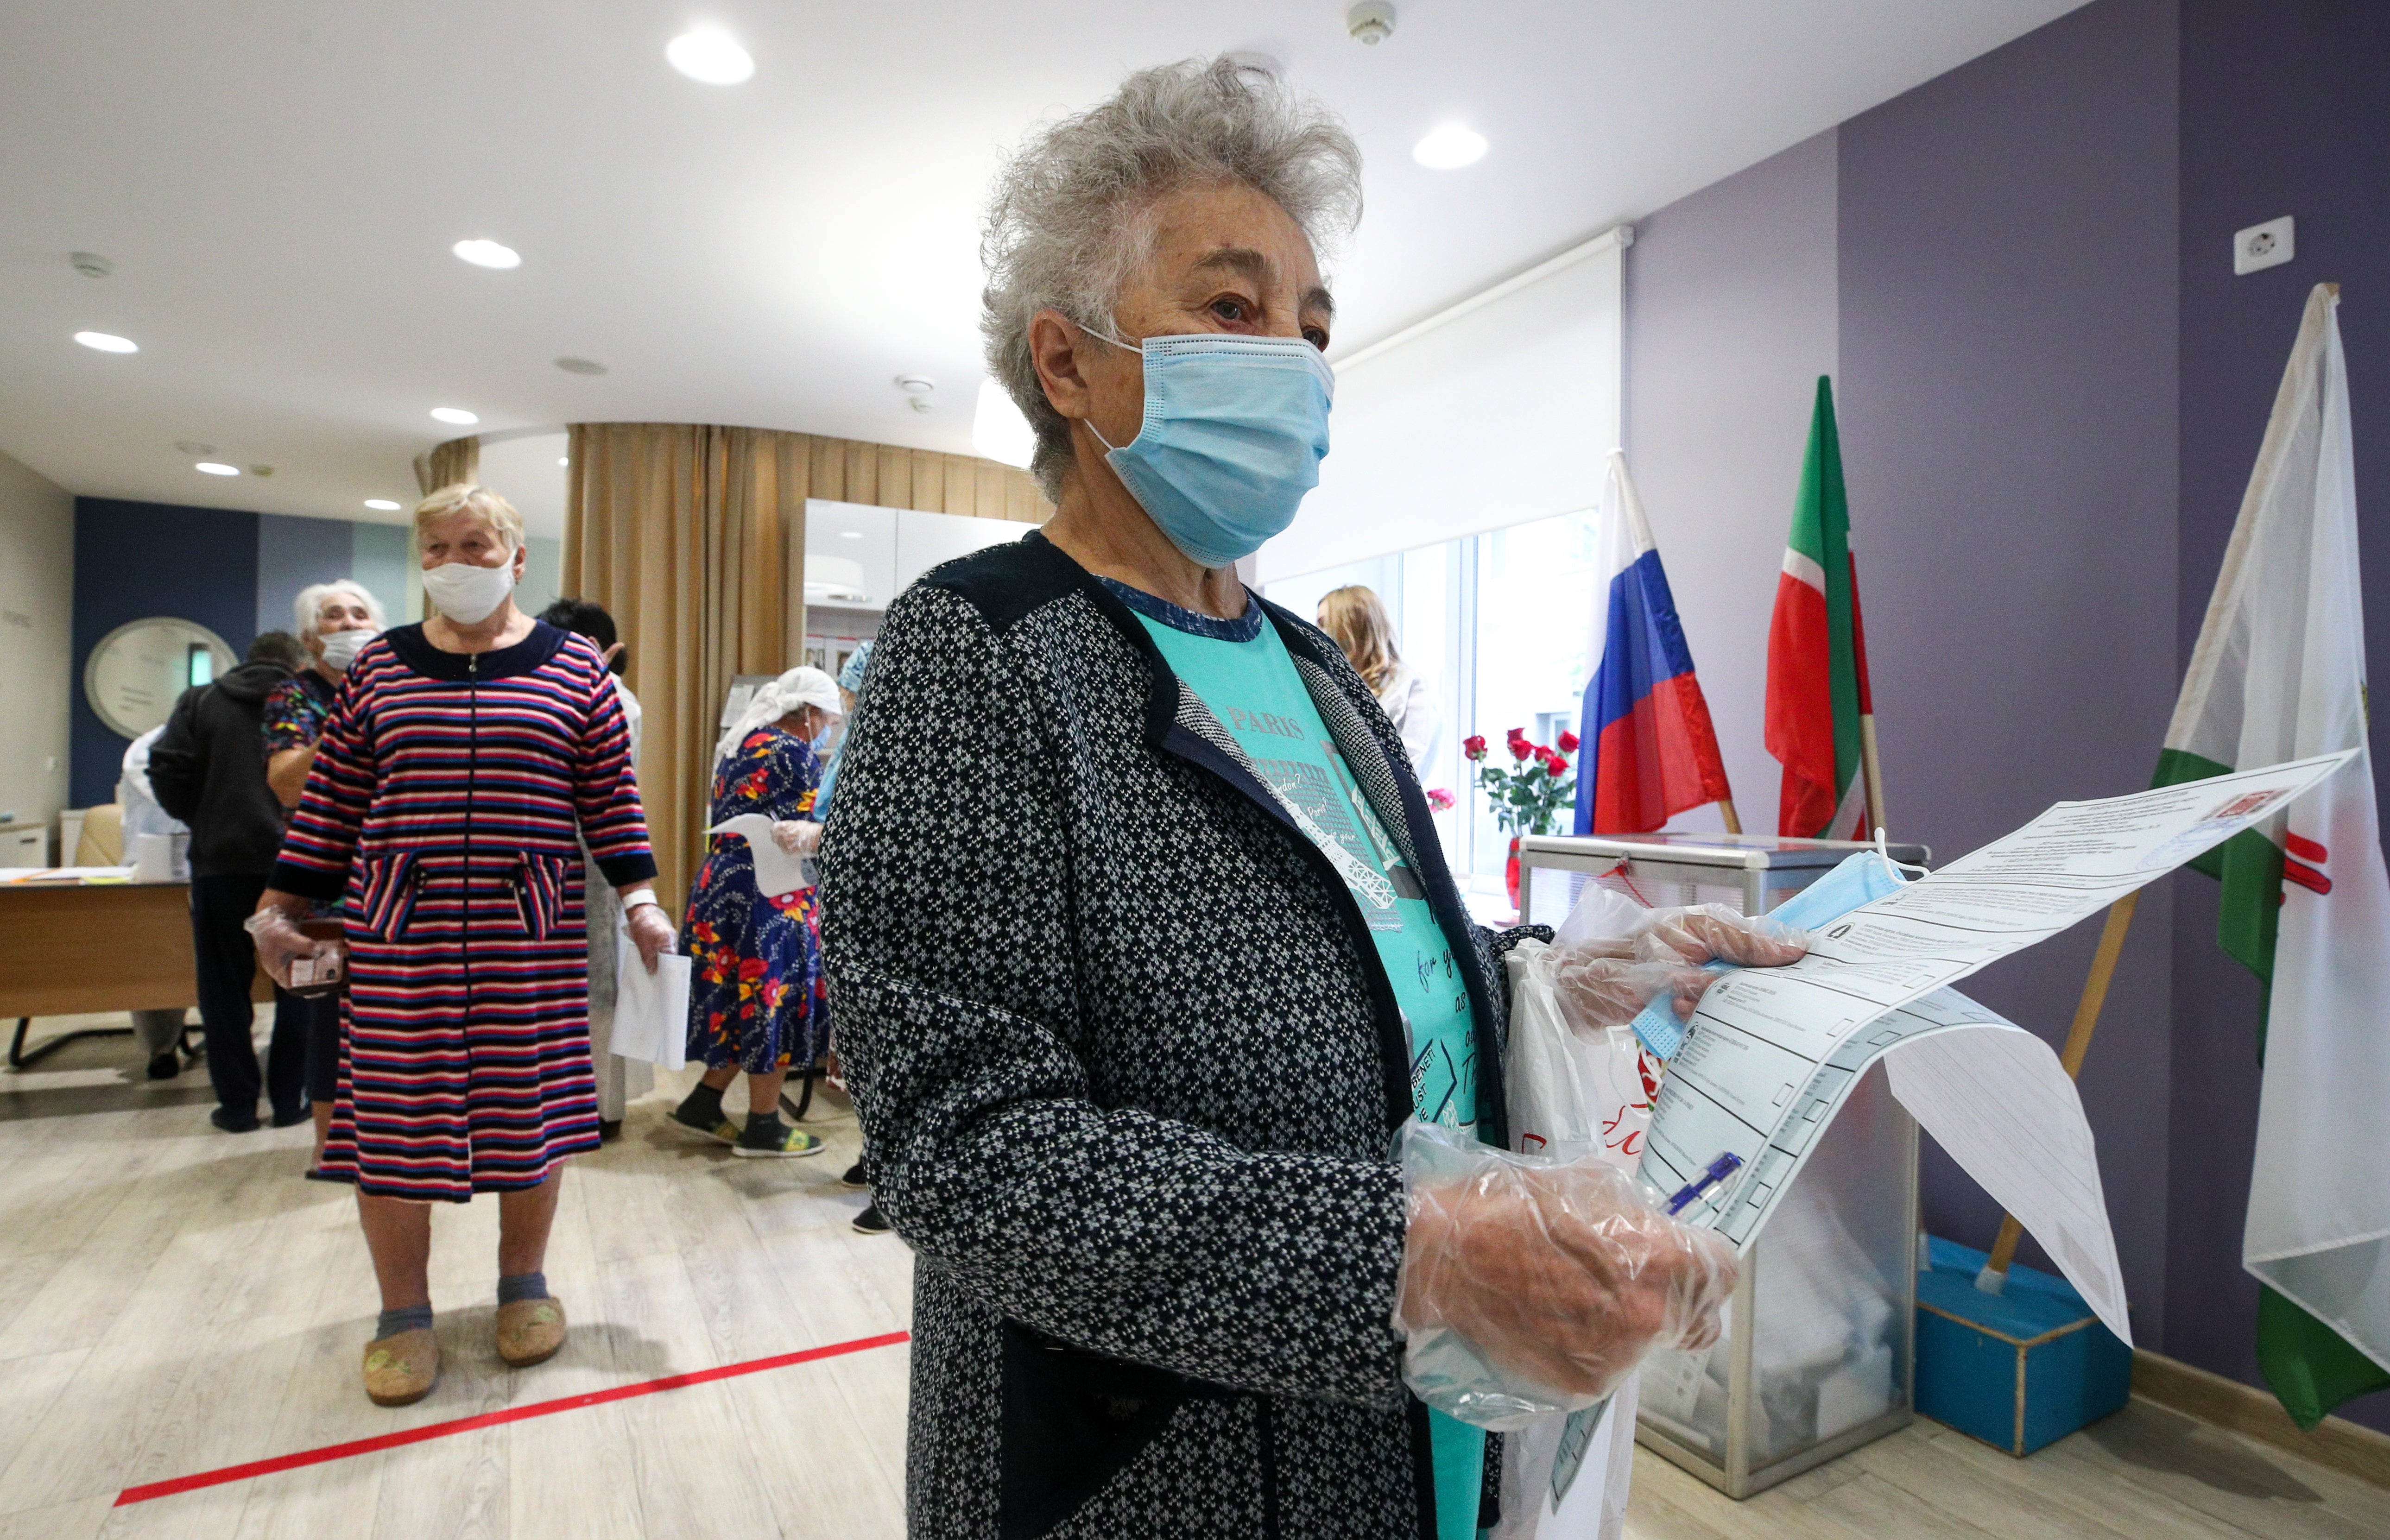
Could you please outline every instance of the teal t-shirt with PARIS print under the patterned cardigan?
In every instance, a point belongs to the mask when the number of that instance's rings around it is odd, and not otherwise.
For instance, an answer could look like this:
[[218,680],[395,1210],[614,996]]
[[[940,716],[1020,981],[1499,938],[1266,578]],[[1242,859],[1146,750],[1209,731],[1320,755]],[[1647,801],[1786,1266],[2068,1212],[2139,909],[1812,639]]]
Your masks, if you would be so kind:
[[[1420,875],[1403,863],[1362,796],[1319,708],[1303,689],[1276,627],[1252,605],[1243,619],[1214,619],[1169,600],[1107,586],[1145,622],[1171,672],[1236,737],[1303,832],[1326,854],[1369,923],[1369,940],[1410,1035],[1412,1112],[1453,1129],[1477,1126],[1477,1031],[1467,980],[1427,904]],[[1436,1540],[1475,1540],[1484,1432],[1429,1411],[1436,1468]]]

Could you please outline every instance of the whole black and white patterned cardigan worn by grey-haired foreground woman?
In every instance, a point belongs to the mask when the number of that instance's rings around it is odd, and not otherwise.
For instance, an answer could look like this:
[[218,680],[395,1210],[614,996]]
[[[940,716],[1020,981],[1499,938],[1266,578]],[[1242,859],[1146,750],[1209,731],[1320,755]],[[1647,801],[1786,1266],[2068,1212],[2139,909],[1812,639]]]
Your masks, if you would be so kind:
[[[1470,971],[1501,940],[1401,739],[1267,607]],[[822,851],[872,1193],[918,1251],[918,1538],[1432,1538],[1393,1313],[1410,1114],[1346,885],[1152,638],[1037,533],[889,612]]]

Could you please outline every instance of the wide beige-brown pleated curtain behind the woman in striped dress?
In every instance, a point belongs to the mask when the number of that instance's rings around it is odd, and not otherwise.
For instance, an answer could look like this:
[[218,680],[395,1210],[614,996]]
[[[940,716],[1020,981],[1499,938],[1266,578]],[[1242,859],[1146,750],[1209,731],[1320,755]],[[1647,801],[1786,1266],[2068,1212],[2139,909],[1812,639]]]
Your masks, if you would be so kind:
[[638,789],[679,913],[703,851],[707,772],[736,674],[805,636],[805,497],[1042,524],[1035,483],[970,454],[691,423],[574,423],[564,593],[614,615],[645,710]]

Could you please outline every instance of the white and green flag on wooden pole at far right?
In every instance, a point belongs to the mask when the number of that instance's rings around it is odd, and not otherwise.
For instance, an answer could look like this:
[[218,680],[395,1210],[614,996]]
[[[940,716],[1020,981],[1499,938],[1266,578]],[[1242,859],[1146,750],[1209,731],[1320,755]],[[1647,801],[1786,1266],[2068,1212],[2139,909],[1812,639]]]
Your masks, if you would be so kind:
[[[2340,297],[2316,285],[2208,600],[2158,784],[2366,746],[2366,622]],[[2302,1428],[2390,1387],[2390,873],[2359,756],[2194,863],[2268,985],[2242,1265]]]

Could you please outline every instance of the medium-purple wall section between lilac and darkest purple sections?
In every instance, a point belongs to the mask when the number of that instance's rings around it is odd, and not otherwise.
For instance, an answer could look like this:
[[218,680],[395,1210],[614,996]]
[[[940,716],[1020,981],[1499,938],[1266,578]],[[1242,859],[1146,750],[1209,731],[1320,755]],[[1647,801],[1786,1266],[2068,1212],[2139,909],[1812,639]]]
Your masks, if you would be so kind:
[[[2175,703],[2175,7],[2106,0],[1840,127],[1843,459],[1900,837],[1969,851],[2149,784]],[[2168,933],[2082,1076],[2134,1334],[2163,1339]],[[2098,921],[1967,990],[2053,1045]],[[1993,1203],[1926,1157],[1926,1224]],[[2043,1263],[2046,1265],[2046,1263]]]

